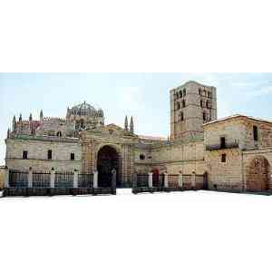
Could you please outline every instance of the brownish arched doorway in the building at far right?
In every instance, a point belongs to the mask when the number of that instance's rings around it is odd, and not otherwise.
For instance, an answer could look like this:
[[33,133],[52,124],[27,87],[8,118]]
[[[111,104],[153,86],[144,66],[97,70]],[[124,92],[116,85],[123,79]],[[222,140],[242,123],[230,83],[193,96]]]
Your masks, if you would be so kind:
[[251,160],[247,172],[247,189],[249,191],[269,189],[270,165],[265,157],[257,156]]

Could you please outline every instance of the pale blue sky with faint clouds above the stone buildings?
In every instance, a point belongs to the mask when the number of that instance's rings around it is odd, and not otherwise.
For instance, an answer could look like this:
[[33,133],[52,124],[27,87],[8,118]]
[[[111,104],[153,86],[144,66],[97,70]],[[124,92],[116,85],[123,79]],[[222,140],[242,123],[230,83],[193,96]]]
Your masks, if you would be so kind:
[[133,116],[137,134],[170,134],[170,89],[189,80],[213,85],[218,117],[243,113],[272,120],[272,73],[0,73],[0,165],[13,116],[65,117],[67,107],[101,107],[105,123]]

